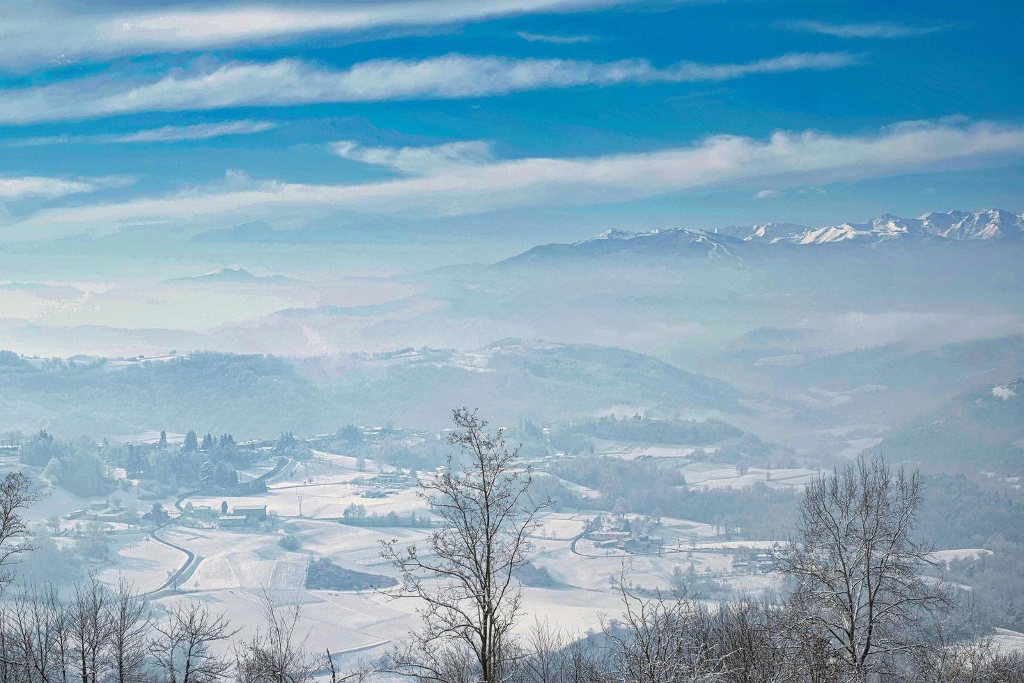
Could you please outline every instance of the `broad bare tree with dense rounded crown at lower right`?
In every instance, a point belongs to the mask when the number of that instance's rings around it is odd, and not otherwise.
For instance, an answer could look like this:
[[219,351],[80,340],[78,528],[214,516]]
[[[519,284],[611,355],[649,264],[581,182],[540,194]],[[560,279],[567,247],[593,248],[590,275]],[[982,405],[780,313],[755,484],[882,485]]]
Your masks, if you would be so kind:
[[823,636],[854,680],[924,646],[921,617],[949,602],[922,577],[934,564],[913,536],[922,488],[918,472],[860,458],[807,485],[797,538],[775,553],[796,582],[794,628]]

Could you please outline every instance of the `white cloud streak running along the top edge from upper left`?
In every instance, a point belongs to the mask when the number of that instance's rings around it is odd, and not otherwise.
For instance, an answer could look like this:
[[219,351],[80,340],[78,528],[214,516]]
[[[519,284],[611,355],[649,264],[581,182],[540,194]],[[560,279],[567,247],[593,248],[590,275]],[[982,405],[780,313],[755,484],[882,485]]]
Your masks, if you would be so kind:
[[482,22],[505,16],[578,12],[636,0],[391,0],[324,4],[308,1],[226,7],[153,5],[74,12],[46,2],[11,2],[0,23],[0,67],[67,63],[121,54],[204,50],[280,42],[314,33]]

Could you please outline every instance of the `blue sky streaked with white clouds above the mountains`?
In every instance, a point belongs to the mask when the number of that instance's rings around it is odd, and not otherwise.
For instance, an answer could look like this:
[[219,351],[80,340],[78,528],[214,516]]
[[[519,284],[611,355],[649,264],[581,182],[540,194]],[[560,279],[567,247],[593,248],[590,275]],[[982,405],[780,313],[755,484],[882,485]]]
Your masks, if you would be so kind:
[[1024,211],[1019,2],[4,4],[11,279]]

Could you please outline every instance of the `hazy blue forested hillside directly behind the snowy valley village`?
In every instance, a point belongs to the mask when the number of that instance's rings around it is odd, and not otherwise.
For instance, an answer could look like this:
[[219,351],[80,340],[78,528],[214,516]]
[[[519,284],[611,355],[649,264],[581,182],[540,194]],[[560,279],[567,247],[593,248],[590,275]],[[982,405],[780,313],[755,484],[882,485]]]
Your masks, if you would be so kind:
[[[728,385],[614,348],[510,341],[471,354],[413,350],[290,360],[195,353],[170,360],[0,360],[5,429],[60,436],[190,428],[252,436],[342,424],[442,426],[451,403],[502,420],[598,411],[738,412]],[[443,400],[440,398],[443,397]]]

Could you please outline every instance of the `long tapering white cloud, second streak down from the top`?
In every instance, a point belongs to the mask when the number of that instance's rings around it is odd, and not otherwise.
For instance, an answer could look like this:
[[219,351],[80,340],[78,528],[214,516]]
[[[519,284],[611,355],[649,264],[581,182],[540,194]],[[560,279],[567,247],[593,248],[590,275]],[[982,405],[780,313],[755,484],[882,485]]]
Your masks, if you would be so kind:
[[377,59],[340,71],[294,59],[229,62],[209,72],[173,73],[145,84],[126,85],[121,80],[92,77],[0,90],[0,123],[240,105],[452,99],[625,82],[724,81],[755,74],[838,69],[853,63],[856,57],[844,52],[783,54],[726,65],[682,61],[664,69],[646,59],[594,62],[464,54],[420,60]]

